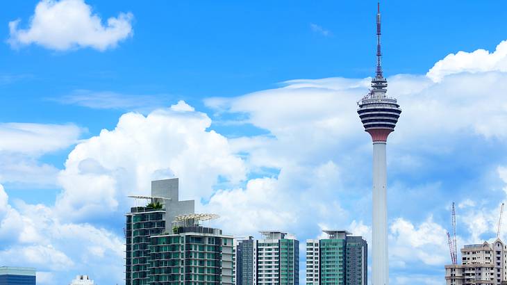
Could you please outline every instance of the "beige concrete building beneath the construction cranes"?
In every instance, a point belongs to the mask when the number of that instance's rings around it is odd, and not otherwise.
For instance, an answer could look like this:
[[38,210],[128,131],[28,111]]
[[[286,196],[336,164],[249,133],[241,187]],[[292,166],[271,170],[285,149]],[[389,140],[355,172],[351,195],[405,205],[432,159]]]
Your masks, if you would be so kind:
[[465,245],[461,264],[445,266],[447,285],[507,284],[507,247],[497,239],[494,243]]

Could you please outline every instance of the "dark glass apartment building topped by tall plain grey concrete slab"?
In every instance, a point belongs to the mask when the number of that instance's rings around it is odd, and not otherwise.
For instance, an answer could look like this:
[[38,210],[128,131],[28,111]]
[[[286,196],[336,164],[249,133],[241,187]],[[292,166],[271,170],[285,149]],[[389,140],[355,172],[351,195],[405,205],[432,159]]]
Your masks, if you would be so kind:
[[126,285],[149,284],[151,236],[172,232],[176,215],[194,213],[194,200],[179,201],[178,179],[151,181],[151,196],[131,196],[149,203],[126,214]]

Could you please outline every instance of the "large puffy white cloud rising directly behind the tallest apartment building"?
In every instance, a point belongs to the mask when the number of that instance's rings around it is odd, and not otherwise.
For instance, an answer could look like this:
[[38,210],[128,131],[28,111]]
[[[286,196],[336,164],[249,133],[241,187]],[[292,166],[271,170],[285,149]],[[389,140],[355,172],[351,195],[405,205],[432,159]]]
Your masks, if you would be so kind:
[[122,115],[115,129],[103,129],[69,154],[58,177],[64,189],[58,210],[69,218],[114,212],[127,195],[147,194],[151,179],[170,174],[181,179],[181,199],[210,197],[219,178],[239,183],[244,163],[210,124],[184,101],[147,116]]

